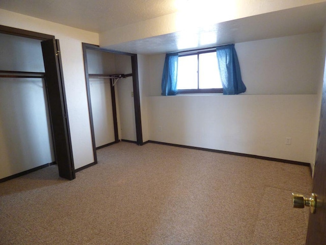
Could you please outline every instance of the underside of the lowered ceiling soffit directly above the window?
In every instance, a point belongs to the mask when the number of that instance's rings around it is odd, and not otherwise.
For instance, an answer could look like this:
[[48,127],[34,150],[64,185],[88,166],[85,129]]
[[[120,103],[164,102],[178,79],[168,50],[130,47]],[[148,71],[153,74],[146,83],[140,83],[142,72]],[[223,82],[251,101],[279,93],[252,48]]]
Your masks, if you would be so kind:
[[240,18],[130,42],[106,46],[134,54],[162,54],[228,43],[320,32],[326,23],[326,2]]

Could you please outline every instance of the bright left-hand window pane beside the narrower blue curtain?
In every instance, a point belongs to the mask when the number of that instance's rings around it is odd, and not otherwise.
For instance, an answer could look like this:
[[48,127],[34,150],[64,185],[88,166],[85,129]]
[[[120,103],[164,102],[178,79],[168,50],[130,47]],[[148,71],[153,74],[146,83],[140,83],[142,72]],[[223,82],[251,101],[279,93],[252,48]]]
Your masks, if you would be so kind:
[[198,59],[197,55],[182,56],[178,59],[177,89],[198,88]]

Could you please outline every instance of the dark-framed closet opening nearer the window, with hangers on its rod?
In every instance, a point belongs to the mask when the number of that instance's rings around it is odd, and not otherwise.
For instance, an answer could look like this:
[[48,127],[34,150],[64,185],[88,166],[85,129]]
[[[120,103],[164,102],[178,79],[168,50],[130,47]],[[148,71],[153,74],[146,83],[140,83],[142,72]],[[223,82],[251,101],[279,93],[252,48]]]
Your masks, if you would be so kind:
[[83,43],[83,52],[93,165],[100,148],[120,141],[143,145],[138,63],[136,54],[88,43]]

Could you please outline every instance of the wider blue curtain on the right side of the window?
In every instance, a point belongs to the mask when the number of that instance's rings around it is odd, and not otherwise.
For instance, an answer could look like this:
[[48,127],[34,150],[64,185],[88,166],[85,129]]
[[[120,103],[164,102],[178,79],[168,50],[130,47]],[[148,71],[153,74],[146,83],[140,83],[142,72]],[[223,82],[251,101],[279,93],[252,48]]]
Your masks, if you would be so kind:
[[239,94],[246,91],[242,82],[238,56],[234,44],[216,47],[223,94]]

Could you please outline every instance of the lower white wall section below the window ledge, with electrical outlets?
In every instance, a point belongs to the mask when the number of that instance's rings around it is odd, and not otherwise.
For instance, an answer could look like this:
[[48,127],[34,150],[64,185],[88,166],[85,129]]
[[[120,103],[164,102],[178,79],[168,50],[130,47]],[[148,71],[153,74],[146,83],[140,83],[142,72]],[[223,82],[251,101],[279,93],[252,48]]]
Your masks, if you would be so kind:
[[316,95],[153,96],[148,101],[151,140],[312,161]]

